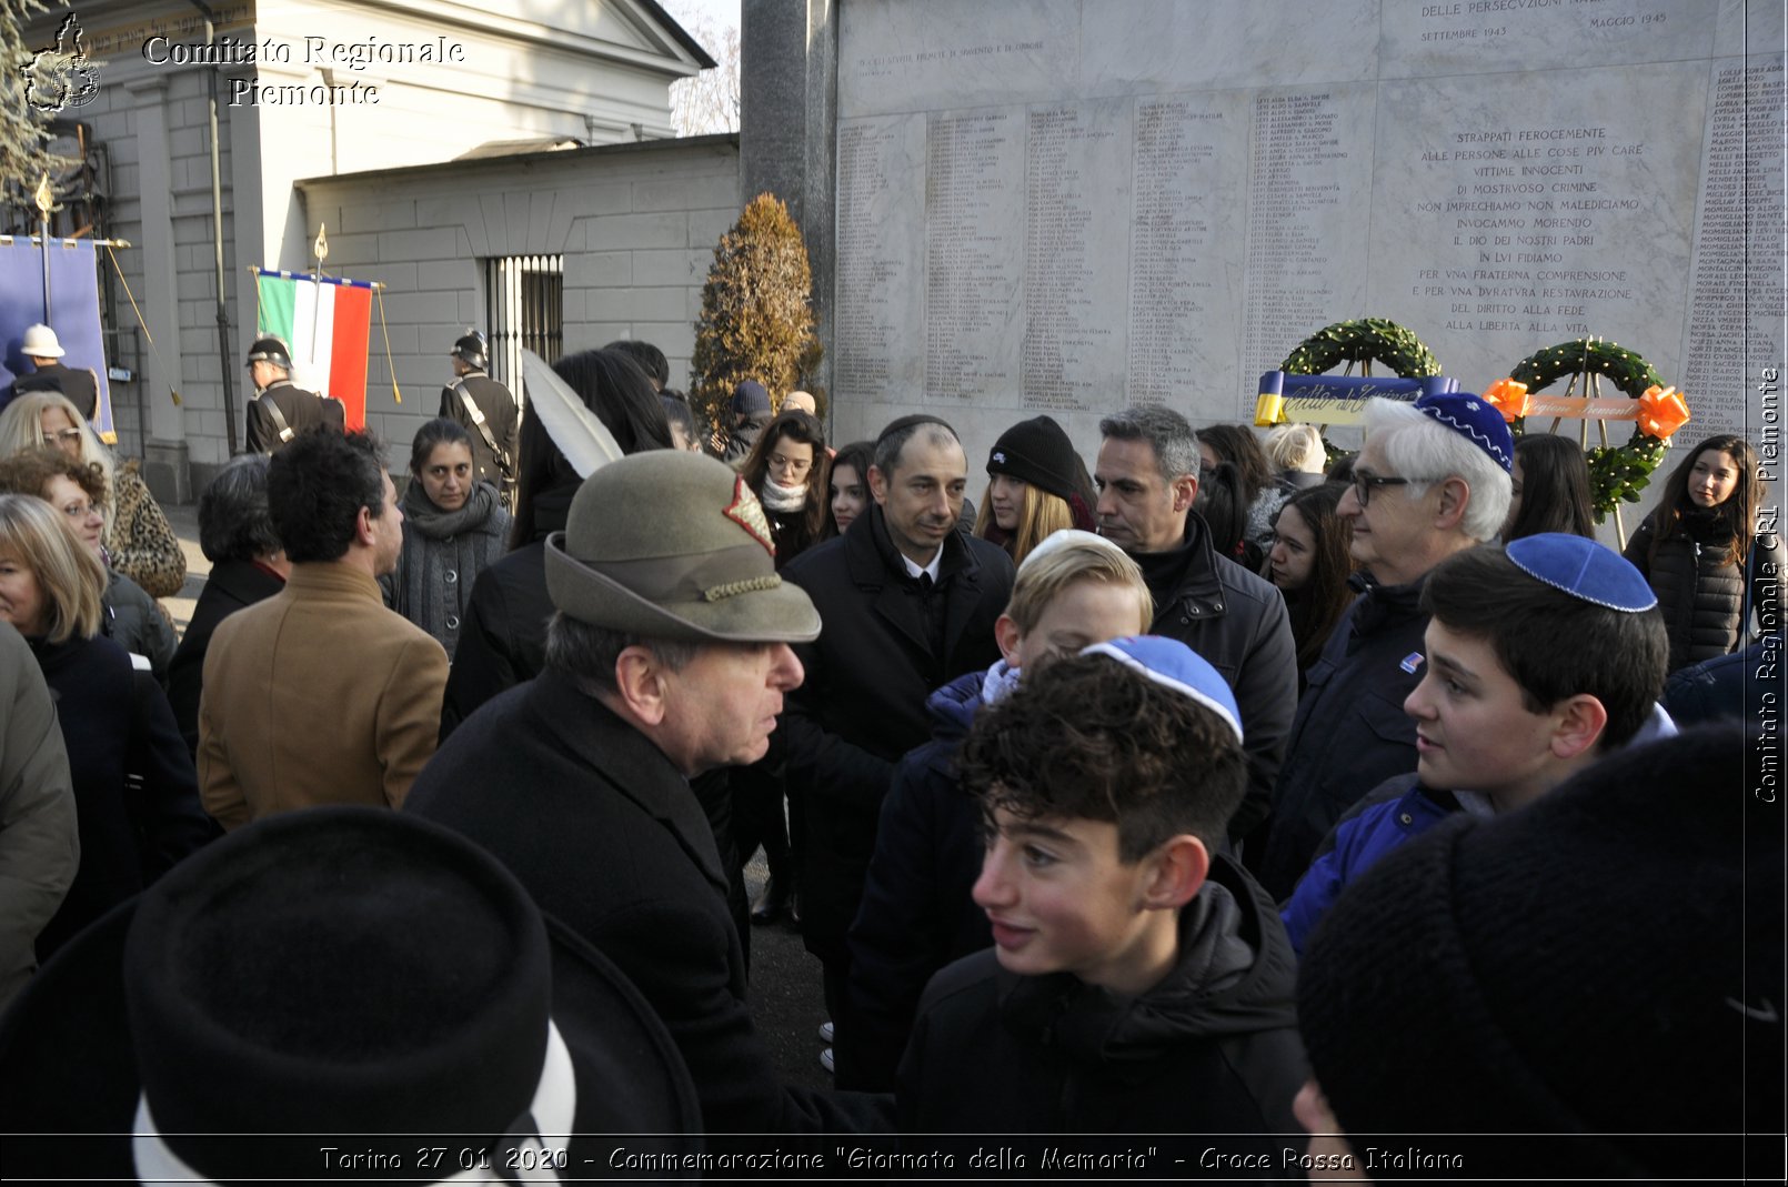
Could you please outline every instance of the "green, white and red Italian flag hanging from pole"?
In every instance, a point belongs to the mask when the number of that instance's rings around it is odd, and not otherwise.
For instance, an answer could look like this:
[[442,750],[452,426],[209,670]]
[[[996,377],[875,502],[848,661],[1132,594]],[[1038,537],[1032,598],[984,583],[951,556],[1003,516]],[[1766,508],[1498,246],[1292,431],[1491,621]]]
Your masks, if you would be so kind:
[[347,427],[365,429],[372,282],[261,268],[256,288],[257,331],[291,349],[291,383],[342,400]]

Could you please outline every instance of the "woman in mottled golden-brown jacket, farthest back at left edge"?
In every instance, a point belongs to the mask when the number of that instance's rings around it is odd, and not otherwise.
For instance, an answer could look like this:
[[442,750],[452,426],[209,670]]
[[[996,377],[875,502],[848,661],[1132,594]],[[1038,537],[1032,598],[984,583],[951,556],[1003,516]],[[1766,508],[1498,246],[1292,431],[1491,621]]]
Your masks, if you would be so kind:
[[173,597],[186,581],[186,552],[134,463],[118,465],[80,409],[61,391],[30,391],[0,411],[0,458],[52,445],[104,476],[105,561],[150,597]]

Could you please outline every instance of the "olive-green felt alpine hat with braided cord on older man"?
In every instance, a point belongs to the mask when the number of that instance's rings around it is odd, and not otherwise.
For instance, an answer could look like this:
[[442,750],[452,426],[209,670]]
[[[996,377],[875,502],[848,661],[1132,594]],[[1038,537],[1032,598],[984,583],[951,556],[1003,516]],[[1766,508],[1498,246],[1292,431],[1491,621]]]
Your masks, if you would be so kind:
[[604,465],[547,536],[547,594],[565,615],[644,638],[805,644],[806,592],[776,576],[756,495],[713,458],[654,449]]

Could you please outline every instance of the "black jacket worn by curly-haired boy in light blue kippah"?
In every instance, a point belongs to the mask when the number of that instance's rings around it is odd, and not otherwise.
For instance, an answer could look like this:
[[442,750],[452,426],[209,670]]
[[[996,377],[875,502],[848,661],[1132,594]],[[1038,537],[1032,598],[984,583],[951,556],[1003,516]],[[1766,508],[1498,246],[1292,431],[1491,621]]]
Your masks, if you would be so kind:
[[1303,1085],[1296,962],[1266,892],[1216,856],[1180,910],[1178,964],[1139,998],[992,949],[926,989],[896,1110],[903,1133],[1248,1133],[1275,1158]]

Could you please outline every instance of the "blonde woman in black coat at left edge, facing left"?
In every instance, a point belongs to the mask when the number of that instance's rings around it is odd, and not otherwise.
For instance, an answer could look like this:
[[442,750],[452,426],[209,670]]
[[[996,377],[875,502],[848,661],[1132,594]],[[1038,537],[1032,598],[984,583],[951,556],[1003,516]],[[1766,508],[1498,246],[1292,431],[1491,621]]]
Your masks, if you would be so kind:
[[38,935],[38,960],[216,835],[168,697],[100,635],[104,588],[105,567],[64,515],[0,495],[0,619],[55,695],[80,838],[80,869]]

